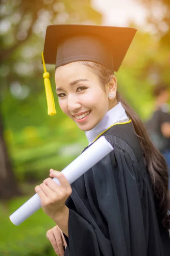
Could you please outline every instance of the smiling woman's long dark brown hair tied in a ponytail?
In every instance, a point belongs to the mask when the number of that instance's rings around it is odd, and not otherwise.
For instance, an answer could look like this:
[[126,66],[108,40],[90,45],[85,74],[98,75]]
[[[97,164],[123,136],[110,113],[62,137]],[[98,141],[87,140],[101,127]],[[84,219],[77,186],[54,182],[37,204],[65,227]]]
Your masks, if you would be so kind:
[[[113,72],[101,64],[91,61],[79,61],[91,68],[91,71],[98,75],[103,85],[108,84],[113,77]],[[162,219],[162,224],[167,229],[169,228],[170,216],[167,214],[170,196],[168,192],[168,171],[167,165],[161,153],[155,148],[150,141],[144,124],[139,119],[135,111],[125,102],[122,96],[117,92],[116,98],[122,103],[127,116],[132,120],[132,125],[136,136],[139,138],[139,143],[144,152],[144,163],[150,175],[153,186],[154,196],[156,199],[156,208],[159,211]]]

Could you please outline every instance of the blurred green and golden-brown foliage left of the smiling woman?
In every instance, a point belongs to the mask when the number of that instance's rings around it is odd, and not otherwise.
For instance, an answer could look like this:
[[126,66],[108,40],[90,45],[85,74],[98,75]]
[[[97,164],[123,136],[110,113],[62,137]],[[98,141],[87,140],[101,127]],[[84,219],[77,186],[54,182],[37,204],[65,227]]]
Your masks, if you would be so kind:
[[[23,197],[1,202],[0,256],[53,256],[46,232],[55,223],[42,209],[18,227],[9,220],[50,168],[61,171],[87,145],[85,134],[59,110],[57,97],[57,115],[47,115],[40,57],[45,30],[54,23],[100,24],[102,15],[90,0],[3,0],[0,13],[0,122],[23,192]],[[47,69],[54,90],[54,67]]]

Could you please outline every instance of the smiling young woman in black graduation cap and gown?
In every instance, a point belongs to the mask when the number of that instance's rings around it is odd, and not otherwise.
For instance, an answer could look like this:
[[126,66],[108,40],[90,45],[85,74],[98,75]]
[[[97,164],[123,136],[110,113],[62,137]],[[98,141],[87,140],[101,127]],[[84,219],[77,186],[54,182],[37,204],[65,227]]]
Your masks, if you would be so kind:
[[58,255],[169,255],[167,166],[119,95],[114,76],[135,33],[106,26],[47,28],[44,56],[56,63],[60,108],[85,131],[88,147],[104,135],[114,148],[71,186],[51,169],[35,187],[57,224],[47,238]]

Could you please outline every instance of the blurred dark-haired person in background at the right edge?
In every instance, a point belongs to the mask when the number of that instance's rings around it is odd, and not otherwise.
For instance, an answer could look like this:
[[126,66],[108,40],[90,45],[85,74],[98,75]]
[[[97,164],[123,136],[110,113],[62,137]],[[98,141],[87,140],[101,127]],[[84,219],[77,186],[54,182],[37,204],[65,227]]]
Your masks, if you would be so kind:
[[170,189],[170,89],[167,84],[160,83],[153,90],[155,111],[146,123],[147,131],[153,144],[164,155],[169,172]]

